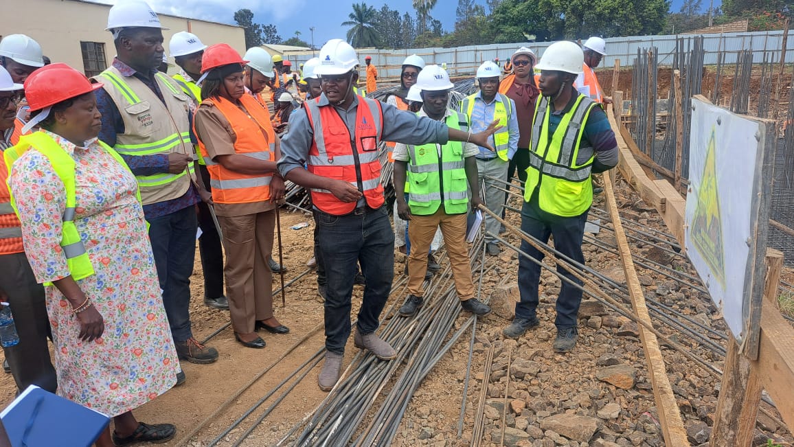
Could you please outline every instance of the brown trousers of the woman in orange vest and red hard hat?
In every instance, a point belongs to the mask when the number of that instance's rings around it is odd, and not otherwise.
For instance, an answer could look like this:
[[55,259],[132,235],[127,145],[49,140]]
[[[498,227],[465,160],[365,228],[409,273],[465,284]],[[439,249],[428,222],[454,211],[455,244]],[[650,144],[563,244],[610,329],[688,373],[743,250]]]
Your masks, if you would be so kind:
[[273,316],[272,272],[268,265],[276,210],[226,218],[218,216],[223,233],[226,297],[234,332],[256,332],[256,321]]

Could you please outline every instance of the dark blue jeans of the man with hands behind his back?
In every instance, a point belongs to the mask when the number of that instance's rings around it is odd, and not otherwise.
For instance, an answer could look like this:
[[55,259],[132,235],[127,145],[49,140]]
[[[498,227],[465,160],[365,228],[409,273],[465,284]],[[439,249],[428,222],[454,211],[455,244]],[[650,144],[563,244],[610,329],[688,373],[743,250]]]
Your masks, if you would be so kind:
[[[582,238],[584,237],[584,222],[587,220],[588,211],[573,218],[563,218],[546,213],[538,206],[537,195],[530,202],[524,202],[521,210],[523,232],[531,234],[543,242],[548,242],[549,236],[553,235],[554,248],[581,264],[584,264]],[[543,260],[543,254],[526,241],[521,242],[521,250],[537,260]],[[557,266],[557,272],[581,285],[579,279],[560,266]],[[525,256],[518,256],[518,292],[521,295],[521,301],[515,305],[515,318],[532,319],[537,316],[540,276],[540,265],[526,259]],[[563,281],[560,295],[557,297],[557,319],[554,321],[557,328],[565,329],[576,326],[576,314],[579,313],[581,301],[582,291]]]

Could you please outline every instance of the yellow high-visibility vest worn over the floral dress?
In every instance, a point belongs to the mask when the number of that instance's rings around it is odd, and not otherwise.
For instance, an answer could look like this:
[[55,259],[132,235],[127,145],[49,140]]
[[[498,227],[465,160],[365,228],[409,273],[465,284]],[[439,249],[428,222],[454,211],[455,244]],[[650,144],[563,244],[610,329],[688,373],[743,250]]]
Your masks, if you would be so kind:
[[[114,151],[110,146],[102,141],[98,141],[99,145],[105,149],[110,156],[113,156],[121,166],[129,170],[127,164]],[[29,135],[23,135],[19,139],[19,143],[12,148],[6,149],[4,156],[6,159],[6,168],[10,172],[13,167],[13,162],[16,161],[27,150],[33,148],[46,156],[52,164],[52,169],[55,170],[56,175],[60,181],[64,183],[64,192],[66,193],[66,208],[64,210],[64,217],[61,226],[61,239],[60,247],[64,250],[66,257],[66,264],[69,268],[69,273],[75,281],[94,275],[94,266],[91,265],[91,259],[86,252],[86,246],[80,238],[80,233],[75,226],[75,203],[77,193],[75,191],[75,160],[61,148],[60,145],[44,132],[35,132]],[[130,171],[132,175],[132,171]],[[141,201],[141,192],[136,191],[138,202]],[[10,194],[10,203],[13,210],[19,215],[16,202],[14,202],[13,194]],[[45,286],[50,286],[52,283],[44,283]]]

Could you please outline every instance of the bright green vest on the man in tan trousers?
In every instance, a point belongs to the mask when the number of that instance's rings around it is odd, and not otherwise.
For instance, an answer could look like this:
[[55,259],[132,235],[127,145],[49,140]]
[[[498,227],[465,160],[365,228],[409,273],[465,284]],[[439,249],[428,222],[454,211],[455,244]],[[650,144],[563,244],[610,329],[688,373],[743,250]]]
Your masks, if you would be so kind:
[[[468,130],[468,122],[463,114],[454,110],[445,121],[450,129]],[[438,156],[435,143],[408,145],[408,153],[408,206],[411,214],[434,214],[441,202],[444,203],[446,214],[465,213],[468,207],[468,181],[463,143],[448,141],[446,145],[441,145],[441,157]]]

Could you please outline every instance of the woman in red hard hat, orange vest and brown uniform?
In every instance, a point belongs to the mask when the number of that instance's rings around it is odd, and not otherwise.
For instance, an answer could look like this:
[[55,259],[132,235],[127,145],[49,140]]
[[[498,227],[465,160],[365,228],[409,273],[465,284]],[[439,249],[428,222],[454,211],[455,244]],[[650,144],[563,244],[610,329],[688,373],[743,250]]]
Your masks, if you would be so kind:
[[289,332],[273,316],[268,266],[284,182],[276,169],[281,155],[268,111],[245,94],[245,62],[227,44],[204,50],[206,80],[194,130],[210,171],[214,210],[221,226],[234,337],[248,348],[264,348],[258,329]]

